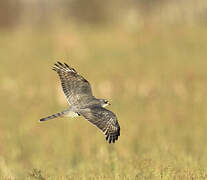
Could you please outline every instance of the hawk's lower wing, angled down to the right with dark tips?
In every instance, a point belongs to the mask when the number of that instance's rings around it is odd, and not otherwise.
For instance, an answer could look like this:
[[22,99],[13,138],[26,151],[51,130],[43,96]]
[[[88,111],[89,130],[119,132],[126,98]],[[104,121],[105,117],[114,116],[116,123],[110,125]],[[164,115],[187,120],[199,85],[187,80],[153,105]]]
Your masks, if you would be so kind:
[[113,112],[101,106],[92,106],[89,107],[89,111],[83,111],[80,114],[98,127],[105,134],[106,140],[108,140],[109,143],[114,143],[118,140],[120,136],[120,126]]

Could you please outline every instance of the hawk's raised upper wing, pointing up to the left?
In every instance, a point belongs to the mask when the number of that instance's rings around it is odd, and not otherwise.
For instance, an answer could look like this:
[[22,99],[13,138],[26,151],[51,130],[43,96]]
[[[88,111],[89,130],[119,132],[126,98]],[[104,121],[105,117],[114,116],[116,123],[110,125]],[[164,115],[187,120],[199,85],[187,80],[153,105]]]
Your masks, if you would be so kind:
[[93,96],[90,83],[66,63],[57,62],[53,70],[59,75],[63,92],[70,105]]

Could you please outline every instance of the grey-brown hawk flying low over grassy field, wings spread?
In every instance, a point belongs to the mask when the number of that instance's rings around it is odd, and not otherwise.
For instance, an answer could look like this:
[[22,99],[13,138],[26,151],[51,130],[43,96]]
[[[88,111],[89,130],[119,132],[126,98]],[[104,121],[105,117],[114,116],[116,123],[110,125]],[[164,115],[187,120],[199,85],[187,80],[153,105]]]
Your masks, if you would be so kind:
[[109,144],[115,143],[120,136],[120,126],[116,115],[104,108],[110,105],[109,102],[106,99],[95,98],[90,83],[66,63],[57,62],[52,69],[59,75],[69,107],[62,112],[42,118],[40,121],[63,116],[83,116],[104,133]]

